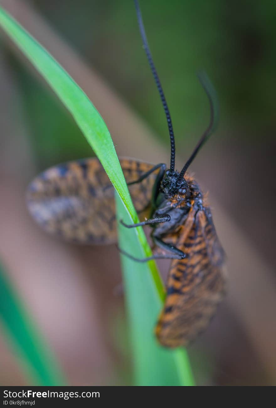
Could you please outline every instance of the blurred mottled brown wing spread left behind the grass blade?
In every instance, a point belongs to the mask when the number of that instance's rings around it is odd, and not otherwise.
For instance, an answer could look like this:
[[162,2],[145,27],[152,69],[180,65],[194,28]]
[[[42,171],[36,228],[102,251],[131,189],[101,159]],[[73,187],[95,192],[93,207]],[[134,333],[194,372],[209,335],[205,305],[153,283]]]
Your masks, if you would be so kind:
[[[126,158],[120,164],[127,182],[153,166]],[[150,204],[156,174],[129,186],[138,212]],[[38,175],[28,187],[27,205],[45,231],[67,241],[108,244],[117,239],[114,188],[97,158],[60,164]]]

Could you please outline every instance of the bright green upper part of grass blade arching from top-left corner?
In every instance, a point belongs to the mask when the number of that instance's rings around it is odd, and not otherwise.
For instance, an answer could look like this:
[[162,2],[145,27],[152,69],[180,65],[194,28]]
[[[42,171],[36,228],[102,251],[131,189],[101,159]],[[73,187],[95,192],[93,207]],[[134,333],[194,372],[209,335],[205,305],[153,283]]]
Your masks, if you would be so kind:
[[117,188],[128,211],[131,209],[134,216],[135,210],[113,141],[95,106],[60,64],[3,9],[0,9],[0,24],[72,114]]

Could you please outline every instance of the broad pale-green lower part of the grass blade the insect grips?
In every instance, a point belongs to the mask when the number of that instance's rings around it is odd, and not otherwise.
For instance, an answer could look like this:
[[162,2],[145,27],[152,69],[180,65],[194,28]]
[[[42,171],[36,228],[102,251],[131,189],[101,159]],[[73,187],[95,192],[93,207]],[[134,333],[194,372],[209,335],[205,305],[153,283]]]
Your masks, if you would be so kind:
[[[126,223],[130,218],[117,196],[117,217]],[[118,223],[119,246],[138,258],[145,252],[138,235]],[[135,366],[135,383],[138,386],[190,386],[194,385],[188,356],[185,350],[167,350],[157,344],[154,327],[165,295],[159,295],[152,269],[155,262],[134,262],[121,255],[126,293],[126,305],[130,322],[130,336]]]

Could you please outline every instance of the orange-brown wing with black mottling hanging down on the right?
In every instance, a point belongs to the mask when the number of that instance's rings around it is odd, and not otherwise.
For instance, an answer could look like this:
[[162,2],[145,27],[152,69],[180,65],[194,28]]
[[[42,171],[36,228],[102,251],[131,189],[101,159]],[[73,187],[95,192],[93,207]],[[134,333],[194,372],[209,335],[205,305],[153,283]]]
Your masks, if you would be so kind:
[[208,326],[225,287],[224,252],[209,208],[190,213],[178,241],[177,247],[188,256],[171,263],[166,302],[156,327],[157,338],[166,347],[187,346]]

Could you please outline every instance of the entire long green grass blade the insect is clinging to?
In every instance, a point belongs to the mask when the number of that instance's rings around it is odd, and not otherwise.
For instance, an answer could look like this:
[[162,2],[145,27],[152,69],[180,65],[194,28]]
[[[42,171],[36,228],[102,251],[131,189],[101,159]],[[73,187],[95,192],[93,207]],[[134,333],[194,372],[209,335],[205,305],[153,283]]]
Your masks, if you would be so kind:
[[[53,57],[3,9],[0,9],[0,25],[49,83],[91,144],[124,204],[118,206],[119,217],[126,215],[129,222],[137,222],[137,213],[130,199],[112,139],[106,124],[91,101]],[[124,234],[129,239],[125,239]],[[141,228],[129,230],[127,233],[125,230],[122,233],[120,229],[119,239],[124,249],[130,250],[134,256],[151,255]],[[122,262],[133,350],[137,363],[135,364],[137,384],[146,384],[147,380],[150,384],[155,382],[155,385],[192,385],[192,375],[185,351],[162,349],[152,335],[154,322],[165,297],[155,262],[142,264],[139,269],[137,264],[125,257]],[[143,303],[141,299],[144,301],[147,299],[148,308],[139,307]],[[152,370],[151,366],[154,366],[155,370]],[[147,372],[151,375],[146,375]]]

